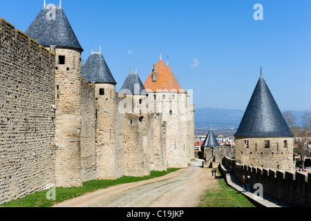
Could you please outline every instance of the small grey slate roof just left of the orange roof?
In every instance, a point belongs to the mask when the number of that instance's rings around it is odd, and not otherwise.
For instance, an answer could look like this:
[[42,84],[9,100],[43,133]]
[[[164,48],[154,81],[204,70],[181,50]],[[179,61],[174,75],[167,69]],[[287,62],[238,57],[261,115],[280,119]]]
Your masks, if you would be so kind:
[[129,73],[119,93],[123,95],[147,95],[144,84],[142,84],[137,72]]

